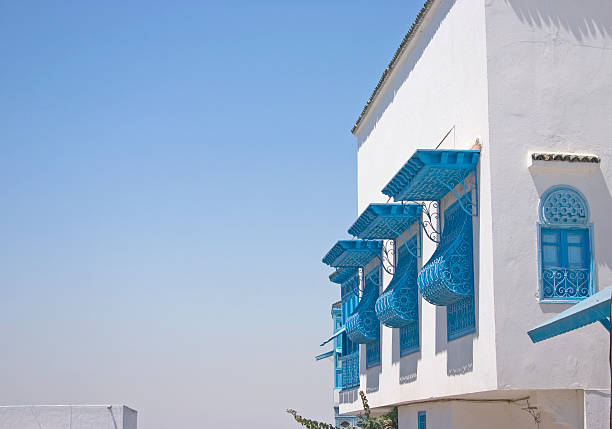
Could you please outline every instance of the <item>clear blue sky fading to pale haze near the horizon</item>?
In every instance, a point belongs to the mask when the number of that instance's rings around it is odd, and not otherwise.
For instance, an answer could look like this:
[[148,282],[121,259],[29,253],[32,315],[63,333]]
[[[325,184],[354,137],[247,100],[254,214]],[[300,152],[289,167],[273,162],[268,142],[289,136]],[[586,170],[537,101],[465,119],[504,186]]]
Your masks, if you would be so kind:
[[0,403],[329,419],[320,260],[421,5],[1,1]]

